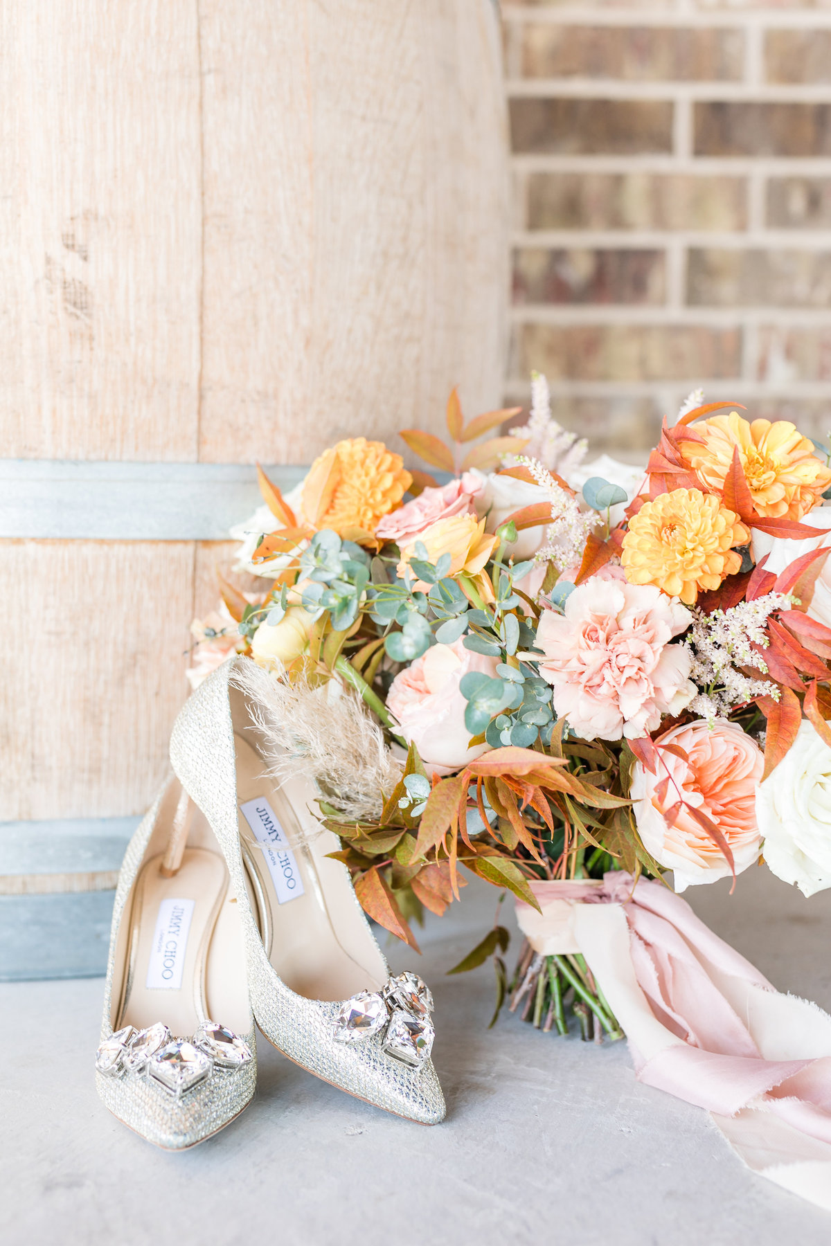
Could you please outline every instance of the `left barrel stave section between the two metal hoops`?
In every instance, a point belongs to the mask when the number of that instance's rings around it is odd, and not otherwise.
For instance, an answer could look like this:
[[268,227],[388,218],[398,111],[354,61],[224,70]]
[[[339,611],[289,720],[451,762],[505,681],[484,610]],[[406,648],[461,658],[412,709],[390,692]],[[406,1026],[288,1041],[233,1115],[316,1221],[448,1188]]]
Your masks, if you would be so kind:
[[7,541],[0,821],[141,814],[184,700],[191,542]]

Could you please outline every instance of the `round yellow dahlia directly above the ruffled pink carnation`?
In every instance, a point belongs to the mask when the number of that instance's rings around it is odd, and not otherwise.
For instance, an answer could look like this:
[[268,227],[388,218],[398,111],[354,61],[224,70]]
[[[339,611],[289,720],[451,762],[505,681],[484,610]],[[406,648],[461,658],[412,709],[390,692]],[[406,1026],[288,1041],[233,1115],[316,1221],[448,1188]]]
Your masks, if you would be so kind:
[[715,493],[677,488],[629,520],[620,562],[630,584],[655,584],[691,606],[699,589],[739,571],[741,554],[731,547],[748,541],[749,530]]

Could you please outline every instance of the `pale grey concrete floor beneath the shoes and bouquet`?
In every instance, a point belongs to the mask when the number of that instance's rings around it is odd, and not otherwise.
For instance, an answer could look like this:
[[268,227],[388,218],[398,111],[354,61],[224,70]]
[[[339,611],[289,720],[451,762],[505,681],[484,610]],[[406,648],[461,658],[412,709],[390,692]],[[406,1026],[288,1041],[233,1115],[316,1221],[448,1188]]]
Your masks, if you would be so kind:
[[[831,1008],[831,892],[805,901],[764,870],[726,890],[689,895],[776,986]],[[705,1113],[638,1085],[624,1044],[558,1039],[511,1015],[486,1029],[491,968],[445,972],[493,902],[471,886],[422,932],[449,1105],[434,1129],[324,1085],[262,1040],[248,1111],[169,1155],[96,1098],[101,981],[0,986],[0,1241],[827,1246],[830,1216],[749,1172]],[[391,958],[417,961],[400,944]]]

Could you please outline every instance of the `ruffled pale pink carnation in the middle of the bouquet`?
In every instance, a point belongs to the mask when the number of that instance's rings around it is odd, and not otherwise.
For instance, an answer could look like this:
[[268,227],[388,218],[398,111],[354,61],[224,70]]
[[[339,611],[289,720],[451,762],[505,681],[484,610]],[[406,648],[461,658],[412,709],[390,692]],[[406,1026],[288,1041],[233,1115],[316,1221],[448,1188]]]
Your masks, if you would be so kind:
[[669,642],[690,622],[684,606],[652,584],[598,577],[571,593],[564,614],[544,611],[539,674],[553,684],[558,718],[584,740],[619,740],[680,713],[698,689],[689,650]]

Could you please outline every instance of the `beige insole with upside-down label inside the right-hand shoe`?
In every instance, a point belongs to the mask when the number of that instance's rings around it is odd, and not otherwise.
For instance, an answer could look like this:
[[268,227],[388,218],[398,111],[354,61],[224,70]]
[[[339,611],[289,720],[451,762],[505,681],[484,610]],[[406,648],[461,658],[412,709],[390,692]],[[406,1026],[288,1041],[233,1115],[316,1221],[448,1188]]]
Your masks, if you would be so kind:
[[309,999],[378,991],[384,957],[345,866],[326,857],[340,844],[313,811],[314,786],[300,773],[278,785],[247,740],[235,745],[239,835],[274,969]]

